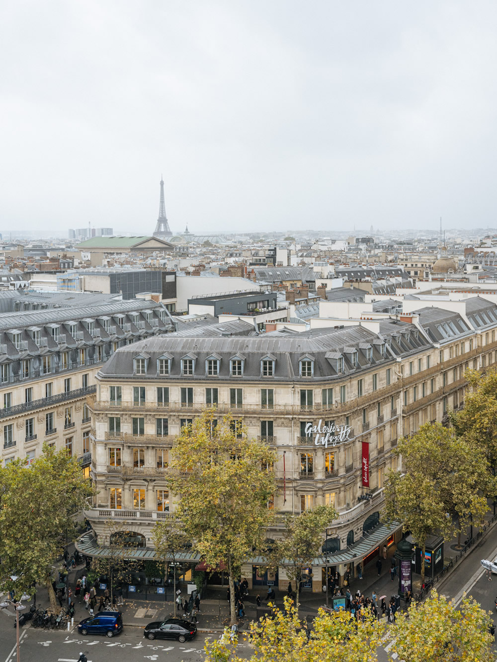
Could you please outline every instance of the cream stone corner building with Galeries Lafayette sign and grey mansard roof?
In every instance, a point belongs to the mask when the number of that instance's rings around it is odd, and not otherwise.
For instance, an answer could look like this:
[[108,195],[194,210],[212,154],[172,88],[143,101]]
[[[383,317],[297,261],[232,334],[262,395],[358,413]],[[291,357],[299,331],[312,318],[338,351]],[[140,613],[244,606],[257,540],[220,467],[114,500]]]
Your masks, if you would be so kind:
[[[453,306],[378,312],[373,322],[304,332],[256,334],[233,320],[229,328],[186,327],[119,349],[89,398],[98,494],[86,516],[96,538],[87,534],[80,549],[105,553],[98,547],[105,520],[122,518],[142,547],[130,553],[153,557],[152,526],[175,508],[166,483],[174,439],[215,406],[277,451],[278,516],[268,538],[278,538],[286,512],[337,508],[322,554],[307,569],[307,590],[321,591],[325,565],[343,576],[374,561],[382,545],[400,537],[400,524],[380,516],[386,472],[401,468],[393,452],[398,437],[423,422],[447,421],[451,408],[463,406],[465,370],[496,363],[496,305],[472,297]],[[267,581],[257,559],[243,575]],[[272,579],[286,588],[284,569]]]

